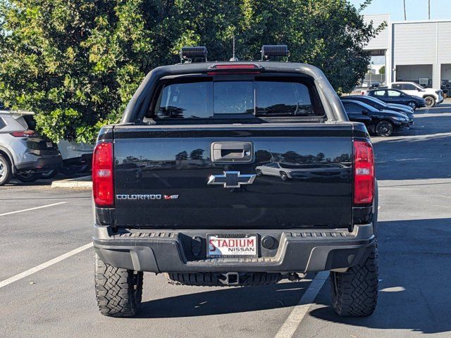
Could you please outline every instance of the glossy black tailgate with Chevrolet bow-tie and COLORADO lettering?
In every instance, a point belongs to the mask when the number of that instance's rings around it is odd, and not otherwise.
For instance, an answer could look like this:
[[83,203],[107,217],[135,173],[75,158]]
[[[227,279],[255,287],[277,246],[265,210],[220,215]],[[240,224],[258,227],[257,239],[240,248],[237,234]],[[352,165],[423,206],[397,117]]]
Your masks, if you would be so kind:
[[116,225],[290,229],[352,223],[352,125],[115,127]]

